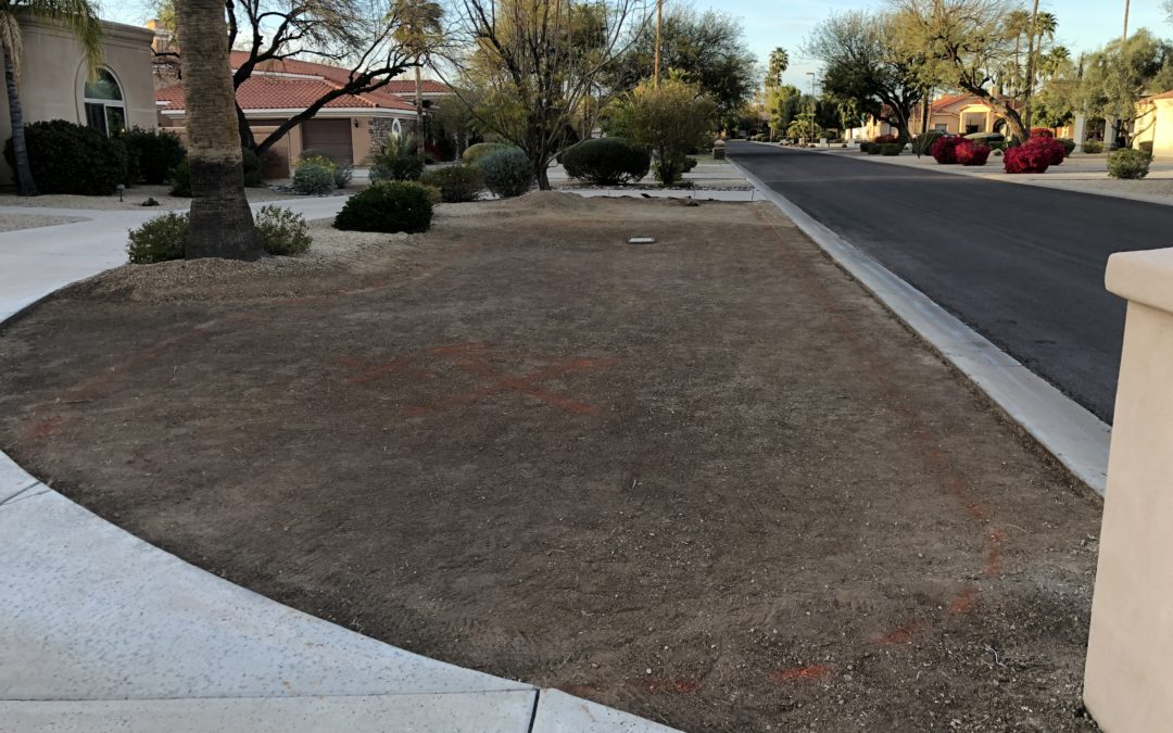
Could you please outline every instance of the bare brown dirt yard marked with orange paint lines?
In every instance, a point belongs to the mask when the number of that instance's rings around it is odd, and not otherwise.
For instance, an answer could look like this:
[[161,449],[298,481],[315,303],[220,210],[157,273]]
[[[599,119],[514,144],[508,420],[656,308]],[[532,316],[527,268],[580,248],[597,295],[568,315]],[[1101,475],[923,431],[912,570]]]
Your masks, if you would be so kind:
[[61,292],[0,333],[0,444],[271,598],[687,731],[1094,729],[1098,502],[777,210],[384,242]]

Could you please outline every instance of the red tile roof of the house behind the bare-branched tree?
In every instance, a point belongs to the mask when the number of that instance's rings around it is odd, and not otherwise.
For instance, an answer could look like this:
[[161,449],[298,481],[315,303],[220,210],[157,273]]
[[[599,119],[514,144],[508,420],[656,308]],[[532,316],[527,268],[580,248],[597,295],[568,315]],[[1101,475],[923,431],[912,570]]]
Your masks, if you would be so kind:
[[[237,68],[245,52],[232,52],[232,68]],[[257,72],[236,90],[236,100],[240,109],[305,109],[323,95],[341,88],[350,75],[343,69],[324,63],[311,63],[296,59],[267,61],[258,65]],[[289,74],[290,76],[286,76]],[[293,76],[296,75],[296,76]],[[448,87],[438,81],[425,80],[421,84],[425,94],[447,93]],[[415,104],[405,96],[415,94],[415,82],[409,80],[392,80],[387,86],[361,94],[344,94],[326,103],[326,109],[387,109],[415,111]],[[158,102],[167,102],[167,111],[185,109],[183,87],[172,84],[155,93]]]

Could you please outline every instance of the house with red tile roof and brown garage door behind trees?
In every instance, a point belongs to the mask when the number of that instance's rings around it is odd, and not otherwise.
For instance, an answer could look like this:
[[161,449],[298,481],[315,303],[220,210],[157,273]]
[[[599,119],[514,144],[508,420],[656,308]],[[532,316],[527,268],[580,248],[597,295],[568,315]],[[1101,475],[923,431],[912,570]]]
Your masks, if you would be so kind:
[[[232,52],[233,70],[246,59],[246,53]],[[348,69],[325,63],[294,59],[267,61],[240,84],[236,99],[259,141],[324,94],[340,89],[348,74]],[[452,95],[447,86],[432,80],[425,80],[421,89],[425,106]],[[187,117],[182,83],[162,87],[156,99],[160,125],[182,131]],[[346,94],[286,133],[266,155],[265,175],[289,175],[301,151],[310,149],[321,150],[339,162],[360,165],[372,147],[414,128],[414,81],[393,80],[374,91]]]

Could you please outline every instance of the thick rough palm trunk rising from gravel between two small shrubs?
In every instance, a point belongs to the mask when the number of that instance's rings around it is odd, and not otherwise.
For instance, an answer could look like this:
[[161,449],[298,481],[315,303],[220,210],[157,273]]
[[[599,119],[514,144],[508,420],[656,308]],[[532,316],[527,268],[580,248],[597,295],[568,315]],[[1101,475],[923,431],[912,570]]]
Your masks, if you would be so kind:
[[257,259],[264,252],[244,195],[240,129],[223,0],[175,4],[188,101],[191,220],[187,256]]

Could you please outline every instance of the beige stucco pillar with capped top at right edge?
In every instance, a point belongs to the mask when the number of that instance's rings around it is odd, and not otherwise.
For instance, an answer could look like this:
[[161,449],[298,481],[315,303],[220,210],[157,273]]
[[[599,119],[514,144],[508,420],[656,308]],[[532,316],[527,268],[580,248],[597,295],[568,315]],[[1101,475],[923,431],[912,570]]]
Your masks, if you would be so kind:
[[1084,679],[1107,733],[1173,720],[1173,249],[1113,254],[1128,301]]

